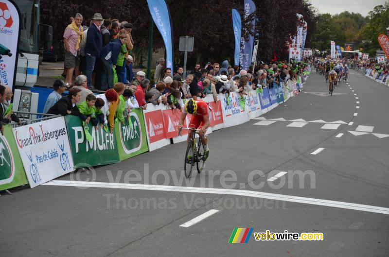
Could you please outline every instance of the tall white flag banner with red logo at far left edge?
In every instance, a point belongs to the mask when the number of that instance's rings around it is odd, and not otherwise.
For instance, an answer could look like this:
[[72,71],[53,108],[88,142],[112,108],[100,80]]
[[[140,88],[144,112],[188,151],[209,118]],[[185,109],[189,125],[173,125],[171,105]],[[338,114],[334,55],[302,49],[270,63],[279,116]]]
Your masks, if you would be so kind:
[[9,0],[0,0],[0,44],[9,55],[0,56],[0,85],[13,88],[18,62],[20,12]]

